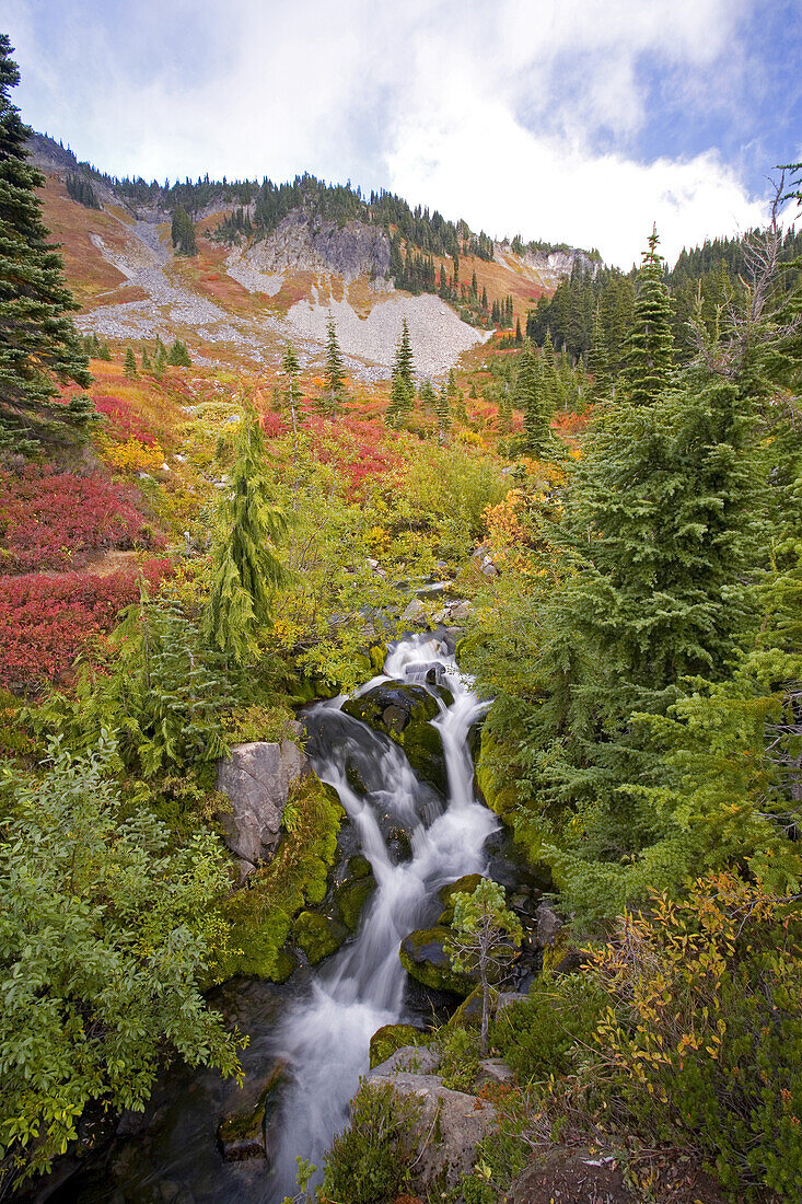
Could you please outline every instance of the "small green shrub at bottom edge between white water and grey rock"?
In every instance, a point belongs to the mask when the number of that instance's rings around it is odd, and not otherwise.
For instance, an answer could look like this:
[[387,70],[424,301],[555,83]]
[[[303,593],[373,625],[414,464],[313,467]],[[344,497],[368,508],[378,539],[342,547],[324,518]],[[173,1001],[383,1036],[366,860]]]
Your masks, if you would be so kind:
[[420,1103],[389,1081],[362,1084],[350,1121],[325,1155],[323,1194],[348,1204],[387,1204],[411,1180]]

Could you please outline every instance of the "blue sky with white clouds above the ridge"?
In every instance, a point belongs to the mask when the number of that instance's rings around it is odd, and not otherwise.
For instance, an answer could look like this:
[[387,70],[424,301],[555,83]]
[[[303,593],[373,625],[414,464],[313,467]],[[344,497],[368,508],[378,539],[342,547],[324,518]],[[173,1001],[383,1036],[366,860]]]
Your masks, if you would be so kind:
[[14,104],[112,175],[385,188],[629,267],[762,222],[802,0],[4,0]]

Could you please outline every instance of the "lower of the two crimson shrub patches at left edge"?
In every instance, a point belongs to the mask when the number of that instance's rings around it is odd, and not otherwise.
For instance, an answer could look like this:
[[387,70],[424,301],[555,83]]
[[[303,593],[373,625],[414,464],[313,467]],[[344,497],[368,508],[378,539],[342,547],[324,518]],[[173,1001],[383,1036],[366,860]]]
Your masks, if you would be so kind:
[[[153,560],[142,574],[155,586],[171,571],[170,561]],[[58,681],[85,641],[110,631],[137,592],[130,569],[108,577],[0,577],[0,685],[19,690],[43,678]]]

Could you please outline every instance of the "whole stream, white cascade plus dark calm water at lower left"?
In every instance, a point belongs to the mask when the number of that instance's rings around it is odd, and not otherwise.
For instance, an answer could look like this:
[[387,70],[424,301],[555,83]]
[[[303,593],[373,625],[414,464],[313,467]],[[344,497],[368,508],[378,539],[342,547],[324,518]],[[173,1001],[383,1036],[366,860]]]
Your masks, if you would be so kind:
[[[181,1067],[159,1084],[145,1125],[135,1126],[128,1140],[118,1129],[104,1168],[72,1178],[51,1199],[281,1204],[295,1193],[296,1156],[322,1167],[325,1149],[347,1122],[376,1029],[432,1022],[438,1001],[409,980],[399,960],[401,940],[436,920],[437,891],[462,874],[493,873],[508,883],[517,875],[511,877],[499,821],[473,789],[470,733],[488,704],[446,644],[431,636],[401,641],[383,673],[356,696],[388,683],[423,685],[437,698],[432,722],[443,743],[447,798],[415,778],[394,740],[344,714],[344,697],[308,708],[307,752],[348,814],[347,854],[367,857],[377,889],[354,936],[319,969],[303,967],[284,985],[238,980],[213,999],[250,1035],[242,1056],[249,1078],[258,1081],[276,1060],[287,1062],[269,1123],[270,1167],[264,1159],[223,1161],[214,1133],[228,1109],[242,1106],[237,1088],[216,1072]],[[401,850],[399,830],[408,838]]]

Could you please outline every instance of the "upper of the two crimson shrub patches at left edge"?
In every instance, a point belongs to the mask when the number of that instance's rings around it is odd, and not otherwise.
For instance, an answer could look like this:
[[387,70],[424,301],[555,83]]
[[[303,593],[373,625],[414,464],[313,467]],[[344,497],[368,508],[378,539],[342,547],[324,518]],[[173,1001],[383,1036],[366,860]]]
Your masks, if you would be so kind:
[[85,562],[92,551],[130,548],[145,519],[132,495],[102,477],[25,468],[0,472],[0,566],[11,573]]

